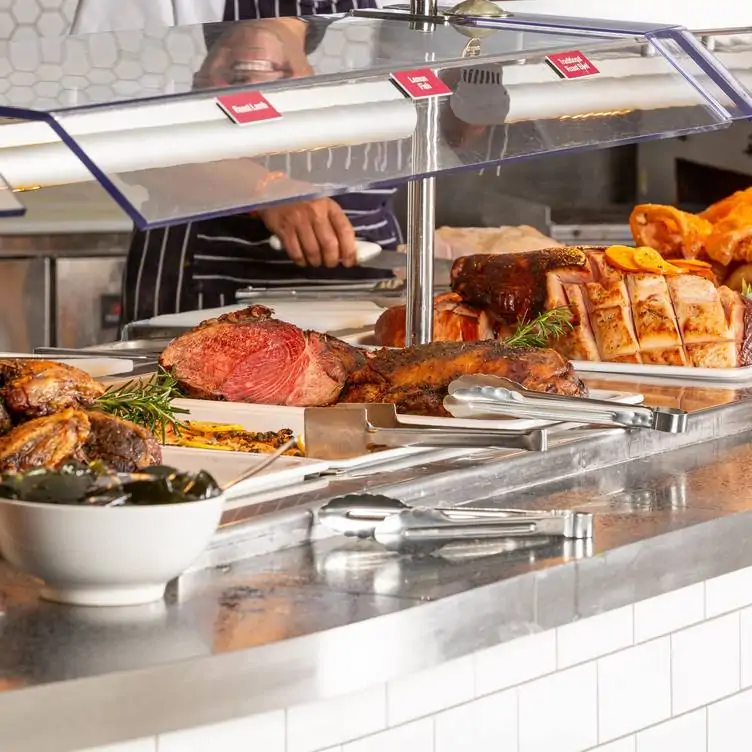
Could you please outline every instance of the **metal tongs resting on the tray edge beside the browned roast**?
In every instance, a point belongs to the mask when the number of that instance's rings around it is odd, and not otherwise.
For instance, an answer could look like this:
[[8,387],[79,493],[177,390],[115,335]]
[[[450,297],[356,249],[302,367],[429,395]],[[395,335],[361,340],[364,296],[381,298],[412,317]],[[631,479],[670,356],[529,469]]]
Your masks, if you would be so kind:
[[665,433],[687,430],[684,410],[531,392],[517,382],[499,376],[461,376],[449,385],[444,407],[455,418],[507,415],[566,423],[651,428]]

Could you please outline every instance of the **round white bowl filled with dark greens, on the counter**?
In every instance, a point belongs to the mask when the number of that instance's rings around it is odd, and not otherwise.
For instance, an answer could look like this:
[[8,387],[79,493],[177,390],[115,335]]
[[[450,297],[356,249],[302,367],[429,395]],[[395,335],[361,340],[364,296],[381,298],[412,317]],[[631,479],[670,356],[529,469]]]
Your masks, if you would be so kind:
[[0,554],[78,606],[158,601],[204,551],[224,496],[154,506],[86,507],[0,499]]

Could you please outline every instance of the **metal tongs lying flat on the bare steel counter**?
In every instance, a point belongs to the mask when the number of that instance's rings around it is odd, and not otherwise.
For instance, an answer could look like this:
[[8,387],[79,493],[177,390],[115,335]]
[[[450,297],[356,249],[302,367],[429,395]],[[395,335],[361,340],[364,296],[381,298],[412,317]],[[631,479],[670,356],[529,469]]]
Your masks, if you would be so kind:
[[411,507],[371,494],[332,499],[321,507],[318,519],[338,533],[373,538],[390,551],[436,548],[458,540],[593,537],[593,515],[569,509]]

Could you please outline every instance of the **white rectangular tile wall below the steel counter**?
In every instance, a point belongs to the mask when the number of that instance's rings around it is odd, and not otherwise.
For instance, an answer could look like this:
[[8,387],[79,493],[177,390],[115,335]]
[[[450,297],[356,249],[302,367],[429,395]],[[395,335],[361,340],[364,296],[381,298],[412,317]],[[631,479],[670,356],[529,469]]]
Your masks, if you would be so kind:
[[749,752],[750,581],[724,576],[284,714],[87,752]]

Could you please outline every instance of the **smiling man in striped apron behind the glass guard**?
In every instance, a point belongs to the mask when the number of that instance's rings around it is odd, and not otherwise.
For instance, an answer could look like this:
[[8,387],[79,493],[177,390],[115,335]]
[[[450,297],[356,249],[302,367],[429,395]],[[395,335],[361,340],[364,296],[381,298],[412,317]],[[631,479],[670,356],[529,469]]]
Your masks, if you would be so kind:
[[[222,27],[207,25],[208,54],[197,75],[197,85],[259,83],[304,75],[308,72],[306,56],[321,42],[327,26],[325,20],[313,16],[342,13],[353,7],[373,7],[373,3],[372,0],[228,0],[225,21],[278,17],[285,20],[231,27],[229,36],[225,33],[220,39],[216,37]],[[309,21],[294,20],[293,16]],[[282,54],[280,48],[284,48]],[[328,157],[319,154],[317,158],[322,156],[331,158],[331,154]],[[376,149],[365,158],[375,160],[383,156]],[[399,155],[393,155],[392,164],[394,159],[399,159]],[[267,167],[284,169],[284,165],[274,164],[274,159],[268,161]],[[136,232],[123,286],[124,323],[230,304],[239,288],[269,280],[391,276],[389,272],[352,264],[356,236],[387,249],[402,242],[391,210],[394,192],[392,188],[367,190],[334,199],[280,205],[252,215]],[[272,235],[282,240],[286,254],[271,248],[268,241]]]

